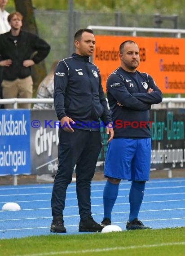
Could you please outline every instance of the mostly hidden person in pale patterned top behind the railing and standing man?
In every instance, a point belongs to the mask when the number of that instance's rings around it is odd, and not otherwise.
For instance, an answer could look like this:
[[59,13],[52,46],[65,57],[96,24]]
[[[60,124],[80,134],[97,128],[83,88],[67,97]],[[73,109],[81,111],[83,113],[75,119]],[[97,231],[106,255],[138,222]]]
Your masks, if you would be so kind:
[[[37,90],[37,98],[53,98],[53,91],[54,91],[54,71],[57,67],[59,61],[54,61],[51,70],[49,71],[48,75],[44,78],[44,80],[40,83],[38,90]],[[53,103],[35,103],[33,106],[35,110],[54,110]],[[55,174],[41,174],[37,175],[36,180],[38,182],[54,182]],[[72,178],[72,182],[75,182],[76,178]]]

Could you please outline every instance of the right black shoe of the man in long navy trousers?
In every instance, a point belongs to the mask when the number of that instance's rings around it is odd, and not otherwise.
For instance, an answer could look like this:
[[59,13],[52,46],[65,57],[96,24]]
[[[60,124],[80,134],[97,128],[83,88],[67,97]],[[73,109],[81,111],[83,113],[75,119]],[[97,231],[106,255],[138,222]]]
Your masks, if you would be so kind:
[[79,232],[101,232],[103,227],[93,220],[92,216],[88,220],[79,222]]

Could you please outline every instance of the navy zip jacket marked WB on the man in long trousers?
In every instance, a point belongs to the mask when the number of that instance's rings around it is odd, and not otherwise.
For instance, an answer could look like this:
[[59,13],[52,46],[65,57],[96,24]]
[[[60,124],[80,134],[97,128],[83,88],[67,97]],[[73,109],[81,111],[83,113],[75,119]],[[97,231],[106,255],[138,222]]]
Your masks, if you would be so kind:
[[76,53],[57,65],[54,106],[58,120],[68,116],[80,129],[97,131],[100,118],[105,126],[112,121],[97,66]]

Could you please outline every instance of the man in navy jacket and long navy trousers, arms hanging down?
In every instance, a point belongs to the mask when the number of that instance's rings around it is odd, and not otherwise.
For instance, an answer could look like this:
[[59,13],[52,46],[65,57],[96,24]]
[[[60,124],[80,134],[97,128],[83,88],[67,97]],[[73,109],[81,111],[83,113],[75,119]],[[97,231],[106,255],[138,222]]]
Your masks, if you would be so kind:
[[[65,233],[63,210],[66,189],[76,164],[76,193],[79,205],[79,232],[101,232],[91,216],[90,183],[101,150],[100,119],[107,126],[108,141],[114,136],[112,119],[104,97],[97,66],[89,62],[93,54],[93,31],[75,34],[76,53],[57,65],[54,75],[54,106],[59,129],[58,171],[52,193],[51,232]],[[102,125],[101,124],[101,125]],[[110,124],[110,125],[109,125]],[[110,126],[110,128],[108,127]]]

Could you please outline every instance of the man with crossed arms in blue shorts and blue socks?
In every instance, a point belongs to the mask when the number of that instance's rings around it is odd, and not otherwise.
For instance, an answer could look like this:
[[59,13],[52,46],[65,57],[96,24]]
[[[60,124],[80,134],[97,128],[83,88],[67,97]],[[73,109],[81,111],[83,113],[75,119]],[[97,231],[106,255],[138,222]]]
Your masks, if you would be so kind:
[[139,48],[131,40],[119,47],[121,65],[107,79],[107,99],[114,122],[115,136],[110,141],[105,160],[104,218],[102,226],[111,224],[111,212],[121,180],[132,181],[129,193],[130,213],[127,230],[150,229],[138,220],[138,214],[149,180],[151,104],[162,101],[162,93],[152,77],[136,70]]

